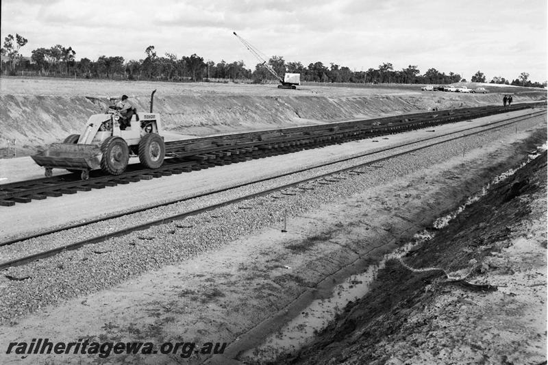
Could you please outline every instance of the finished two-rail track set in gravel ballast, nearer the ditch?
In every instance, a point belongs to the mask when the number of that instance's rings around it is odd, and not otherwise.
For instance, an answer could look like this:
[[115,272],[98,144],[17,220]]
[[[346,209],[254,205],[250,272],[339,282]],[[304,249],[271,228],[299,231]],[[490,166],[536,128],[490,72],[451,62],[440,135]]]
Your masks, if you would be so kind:
[[[534,112],[532,114],[529,114],[527,116],[517,116],[517,117],[514,117],[514,118],[506,119],[504,121],[491,123],[489,125],[469,127],[467,129],[464,129],[464,130],[454,131],[454,132],[450,132],[450,133],[443,134],[443,135],[440,135],[440,136],[435,136],[435,137],[431,137],[431,138],[424,138],[424,139],[419,140],[419,141],[408,142],[408,143],[404,143],[404,144],[399,144],[399,145],[394,146],[394,147],[388,147],[386,149],[380,149],[380,150],[373,151],[373,152],[363,153],[363,154],[360,154],[360,155],[353,156],[351,158],[345,158],[345,159],[337,160],[337,161],[334,161],[334,162],[320,164],[318,166],[302,168],[298,171],[292,171],[291,173],[284,173],[284,174],[275,175],[275,176],[269,177],[269,178],[258,179],[256,181],[250,181],[249,183],[246,183],[246,184],[240,184],[238,186],[232,186],[230,188],[225,188],[225,189],[222,189],[222,190],[216,190],[216,191],[208,192],[206,194],[200,194],[200,195],[197,195],[197,196],[194,196],[194,197],[188,197],[188,198],[179,199],[179,200],[176,200],[176,201],[169,201],[169,202],[166,202],[166,203],[155,205],[153,207],[147,207],[147,208],[144,208],[144,209],[135,210],[133,212],[126,212],[125,214],[117,214],[117,215],[113,215],[113,216],[108,216],[108,217],[96,219],[94,221],[88,221],[86,223],[80,223],[78,225],[72,225],[70,227],[62,227],[60,229],[54,229],[54,230],[51,230],[51,231],[42,232],[41,234],[36,234],[34,236],[27,236],[27,237],[24,237],[24,238],[18,238],[16,240],[1,242],[0,247],[1,246],[9,246],[9,245],[12,245],[12,244],[16,244],[17,242],[23,242],[25,240],[29,240],[29,239],[32,239],[32,238],[38,238],[40,236],[47,236],[47,235],[50,235],[50,234],[55,234],[59,231],[63,231],[63,230],[66,230],[66,229],[73,229],[75,227],[82,227],[84,225],[90,225],[92,223],[98,223],[98,222],[101,222],[101,221],[108,221],[110,219],[118,218],[119,216],[125,216],[125,215],[128,215],[128,214],[135,214],[137,212],[142,212],[144,210],[151,210],[155,207],[160,207],[162,205],[170,205],[170,204],[173,204],[173,203],[178,203],[180,201],[188,201],[188,200],[191,200],[191,199],[196,199],[197,197],[210,196],[210,195],[218,194],[219,192],[224,192],[224,191],[227,191],[227,190],[234,190],[234,189],[237,189],[237,188],[241,188],[242,186],[251,186],[253,184],[258,184],[258,183],[261,183],[261,182],[264,182],[264,181],[269,181],[269,180],[274,181],[275,179],[279,179],[281,177],[286,177],[287,175],[302,173],[303,171],[313,171],[314,169],[323,168],[325,166],[335,166],[336,164],[340,164],[341,162],[348,162],[348,161],[352,161],[352,160],[358,161],[360,158],[363,158],[366,155],[372,155],[374,153],[380,153],[380,152],[384,152],[384,151],[393,151],[393,153],[390,153],[390,155],[385,156],[383,158],[375,159],[373,161],[357,162],[356,164],[353,164],[352,166],[349,166],[349,167],[347,166],[347,167],[344,167],[344,168],[335,168],[333,171],[329,171],[327,173],[319,173],[318,175],[314,175],[312,177],[299,179],[297,181],[292,181],[290,183],[279,184],[279,185],[277,185],[273,188],[263,189],[263,190],[260,190],[258,192],[253,192],[251,194],[246,194],[244,196],[240,196],[240,197],[237,197],[237,198],[234,198],[234,199],[228,199],[226,201],[222,201],[221,203],[215,203],[215,204],[212,204],[212,205],[207,205],[205,207],[200,207],[199,209],[191,210],[191,211],[188,211],[188,212],[183,212],[183,213],[180,213],[180,214],[174,214],[174,215],[171,215],[171,216],[164,216],[162,218],[158,218],[158,219],[155,219],[153,221],[149,221],[147,223],[143,223],[143,224],[140,224],[140,225],[125,227],[123,229],[113,231],[109,234],[103,234],[101,236],[96,236],[96,237],[88,238],[88,239],[85,239],[85,240],[80,240],[80,241],[77,241],[77,242],[71,242],[69,244],[64,244],[60,247],[55,247],[54,249],[49,249],[47,251],[40,251],[40,252],[37,252],[37,253],[33,253],[31,255],[25,255],[23,257],[18,257],[14,260],[1,262],[0,263],[0,270],[4,270],[4,269],[12,267],[12,266],[21,266],[23,264],[27,264],[27,263],[33,262],[35,260],[40,260],[40,259],[44,259],[44,258],[47,258],[47,257],[51,257],[51,256],[56,255],[58,253],[61,253],[63,251],[78,249],[79,247],[82,247],[86,244],[93,244],[93,243],[103,242],[103,241],[108,240],[110,238],[124,236],[124,235],[129,234],[133,231],[140,231],[142,229],[147,229],[147,228],[152,227],[154,225],[162,225],[162,224],[165,224],[165,223],[171,223],[173,221],[177,221],[177,220],[181,220],[183,218],[186,218],[188,216],[193,216],[193,215],[196,215],[196,214],[207,212],[208,210],[214,210],[216,208],[223,207],[225,205],[230,205],[230,204],[238,203],[240,201],[245,201],[245,200],[252,199],[252,198],[255,198],[255,197],[260,197],[260,196],[263,196],[263,195],[266,195],[266,194],[271,194],[272,192],[285,190],[287,188],[296,187],[296,186],[299,186],[301,184],[305,184],[305,183],[310,182],[310,181],[314,181],[314,180],[318,180],[318,179],[325,179],[326,177],[328,177],[330,175],[335,175],[335,174],[344,173],[344,172],[348,172],[348,171],[354,171],[355,173],[363,173],[363,172],[360,172],[360,171],[356,171],[356,169],[362,168],[364,166],[373,166],[373,167],[375,167],[375,164],[379,164],[380,162],[383,162],[384,160],[388,160],[390,158],[395,158],[399,155],[403,155],[403,154],[406,154],[406,153],[412,153],[414,151],[419,151],[419,150],[425,149],[427,147],[432,147],[436,144],[442,144],[442,143],[445,143],[445,142],[449,142],[451,140],[456,140],[456,139],[459,139],[459,138],[464,138],[466,136],[471,136],[473,134],[479,134],[479,133],[482,133],[484,131],[488,131],[488,130],[491,130],[491,129],[506,127],[508,125],[513,125],[514,123],[519,123],[521,121],[525,121],[529,118],[535,118],[537,116],[543,116],[544,114],[546,114],[546,110],[540,110],[540,111]],[[423,144],[424,142],[427,142],[427,144],[418,145],[418,144]],[[402,148],[404,148],[404,151],[401,151]],[[329,181],[329,180],[326,180],[326,181]],[[308,190],[308,189],[303,188],[303,190]]]

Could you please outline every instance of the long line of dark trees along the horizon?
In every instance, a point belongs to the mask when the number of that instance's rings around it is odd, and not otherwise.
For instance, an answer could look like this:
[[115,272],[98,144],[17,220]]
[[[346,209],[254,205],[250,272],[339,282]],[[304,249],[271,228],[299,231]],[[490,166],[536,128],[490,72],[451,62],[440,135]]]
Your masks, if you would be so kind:
[[[4,56],[1,67],[6,75],[20,75],[21,71],[29,75],[53,77],[83,77],[87,79],[129,79],[129,80],[164,80],[164,81],[210,81],[216,80],[252,80],[254,83],[275,81],[262,64],[256,64],[255,69],[246,68],[242,60],[234,62],[215,63],[204,61],[197,54],[182,56],[165,53],[158,55],[153,45],[145,49],[141,60],[126,61],[122,56],[101,55],[97,60],[81,58],[76,60],[76,52],[72,47],[54,45],[49,48],[34,49],[30,58],[23,58],[20,49],[27,44],[27,39],[19,34],[5,37],[1,55]],[[301,62],[286,62],[282,56],[274,55],[268,61],[272,68],[283,75],[285,73],[300,73],[301,81],[336,82],[336,83],[373,83],[373,84],[452,84],[466,82],[458,73],[443,73],[436,68],[429,68],[421,75],[417,66],[409,65],[401,70],[395,70],[390,62],[384,62],[377,68],[366,71],[352,71],[347,66],[323,62],[303,65]],[[486,82],[481,71],[472,75],[473,82]],[[528,87],[546,86],[529,80],[528,73],[521,73],[516,79],[509,81],[504,77],[493,77],[492,84],[506,84]]]

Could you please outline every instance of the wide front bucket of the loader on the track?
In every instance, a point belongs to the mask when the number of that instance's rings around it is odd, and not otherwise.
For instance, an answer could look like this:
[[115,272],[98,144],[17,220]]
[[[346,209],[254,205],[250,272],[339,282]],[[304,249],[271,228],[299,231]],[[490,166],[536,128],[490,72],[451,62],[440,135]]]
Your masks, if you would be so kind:
[[95,144],[53,143],[45,151],[32,155],[32,160],[45,168],[101,168],[101,149]]

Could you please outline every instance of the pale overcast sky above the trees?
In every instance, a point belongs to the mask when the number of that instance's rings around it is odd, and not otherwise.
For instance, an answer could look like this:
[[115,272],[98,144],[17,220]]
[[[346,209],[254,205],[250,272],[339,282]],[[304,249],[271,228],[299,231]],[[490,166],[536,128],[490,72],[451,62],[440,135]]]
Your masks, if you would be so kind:
[[76,59],[197,55],[258,61],[232,34],[286,61],[331,62],[353,71],[391,62],[459,73],[547,79],[547,0],[1,0],[1,40],[21,49],[60,44]]

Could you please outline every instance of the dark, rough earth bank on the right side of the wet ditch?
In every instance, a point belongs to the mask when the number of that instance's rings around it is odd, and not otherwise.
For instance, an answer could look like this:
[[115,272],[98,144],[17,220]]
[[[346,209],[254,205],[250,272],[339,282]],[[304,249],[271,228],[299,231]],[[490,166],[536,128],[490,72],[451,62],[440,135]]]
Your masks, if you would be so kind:
[[546,174],[544,152],[403,258],[466,281],[390,260],[366,297],[287,362],[545,363]]

